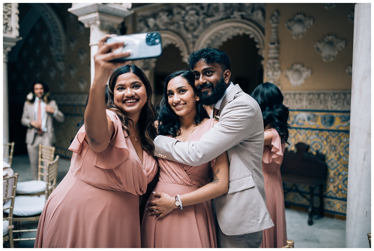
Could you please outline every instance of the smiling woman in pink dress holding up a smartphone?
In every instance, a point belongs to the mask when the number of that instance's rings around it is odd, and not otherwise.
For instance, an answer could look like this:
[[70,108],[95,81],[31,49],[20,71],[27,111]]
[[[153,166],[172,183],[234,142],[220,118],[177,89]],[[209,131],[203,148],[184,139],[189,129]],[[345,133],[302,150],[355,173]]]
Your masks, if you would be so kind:
[[140,248],[139,195],[157,172],[152,89],[137,66],[111,62],[129,53],[110,52],[123,42],[107,44],[108,37],[94,56],[95,77],[84,125],[69,148],[69,172],[46,202],[35,247]]

